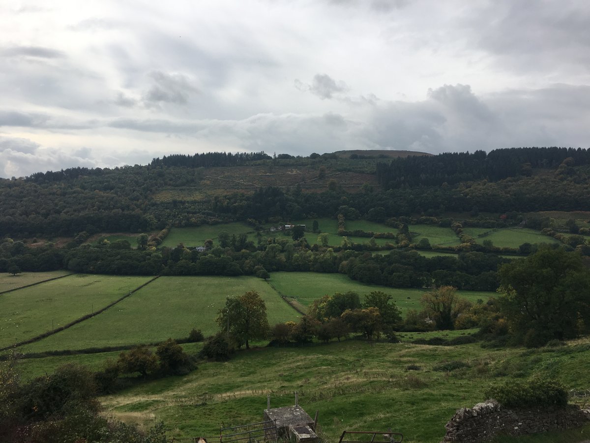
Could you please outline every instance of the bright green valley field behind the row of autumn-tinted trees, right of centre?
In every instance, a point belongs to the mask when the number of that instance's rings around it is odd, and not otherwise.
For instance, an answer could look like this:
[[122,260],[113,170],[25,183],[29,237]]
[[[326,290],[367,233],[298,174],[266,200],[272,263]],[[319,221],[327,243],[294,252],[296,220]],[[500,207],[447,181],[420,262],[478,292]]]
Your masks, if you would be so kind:
[[[363,296],[371,291],[383,291],[385,294],[392,295],[402,315],[405,315],[408,309],[418,309],[422,294],[428,292],[428,289],[366,285],[340,273],[273,272],[269,282],[285,297],[293,298],[304,306],[309,306],[315,299],[325,294],[332,295],[335,292],[355,291],[358,292],[362,301]],[[495,292],[483,291],[457,292],[470,302],[476,302],[480,298],[486,301],[495,295]]]

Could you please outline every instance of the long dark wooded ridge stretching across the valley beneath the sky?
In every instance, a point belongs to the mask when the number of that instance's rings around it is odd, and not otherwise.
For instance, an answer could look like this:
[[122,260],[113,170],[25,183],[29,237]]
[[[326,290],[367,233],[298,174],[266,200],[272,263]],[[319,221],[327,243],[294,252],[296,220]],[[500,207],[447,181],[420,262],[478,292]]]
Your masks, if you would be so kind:
[[[146,166],[70,168],[0,180],[0,235],[75,236],[83,231],[143,232],[272,217],[335,217],[340,206],[353,207],[362,217],[369,217],[374,208],[395,217],[471,211],[474,207],[487,212],[590,207],[588,149],[498,149],[487,155],[477,151],[410,156],[389,164],[380,158],[339,161],[317,154],[296,160],[265,156],[171,155]],[[317,171],[318,178],[309,182],[313,188],[307,192],[299,186],[281,186],[281,174],[287,172],[282,168],[293,162]],[[217,164],[251,164],[251,174],[273,171],[277,186],[258,187],[250,193],[224,193],[221,189],[208,194],[203,175]],[[355,165],[371,172],[381,187],[359,184],[359,192],[344,193],[338,174]],[[181,193],[172,200],[155,198],[163,189],[187,188],[201,191],[202,196],[183,198]]]

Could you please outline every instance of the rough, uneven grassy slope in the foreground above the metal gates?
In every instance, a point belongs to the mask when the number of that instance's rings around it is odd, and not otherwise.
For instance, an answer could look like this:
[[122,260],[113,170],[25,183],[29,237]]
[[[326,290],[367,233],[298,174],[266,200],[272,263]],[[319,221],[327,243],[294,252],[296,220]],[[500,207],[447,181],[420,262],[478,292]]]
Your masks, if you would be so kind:
[[[558,373],[568,388],[588,386],[590,373],[575,368],[590,364],[585,351],[589,344],[586,338],[563,348],[532,351],[483,350],[478,343],[443,347],[343,340],[258,348],[241,351],[225,363],[202,363],[187,376],[104,396],[101,402],[119,419],[148,426],[162,420],[170,429],[168,438],[214,437],[221,424],[260,421],[267,393],[271,407],[278,408],[293,405],[297,390],[299,404],[308,413],[319,411],[324,441],[337,441],[344,429],[391,427],[404,434],[404,442],[438,443],[456,409],[481,402],[488,386],[514,374],[526,378]],[[437,370],[450,361],[465,367]],[[409,371],[409,365],[417,369]]]

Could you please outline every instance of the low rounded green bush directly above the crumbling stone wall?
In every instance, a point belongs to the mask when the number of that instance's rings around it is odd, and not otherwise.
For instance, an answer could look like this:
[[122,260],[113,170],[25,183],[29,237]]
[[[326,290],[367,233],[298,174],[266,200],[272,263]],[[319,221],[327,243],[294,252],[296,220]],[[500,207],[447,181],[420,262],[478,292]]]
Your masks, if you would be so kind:
[[502,386],[488,389],[486,397],[496,400],[507,408],[563,407],[568,404],[568,391],[560,382],[541,378],[525,382],[509,380]]

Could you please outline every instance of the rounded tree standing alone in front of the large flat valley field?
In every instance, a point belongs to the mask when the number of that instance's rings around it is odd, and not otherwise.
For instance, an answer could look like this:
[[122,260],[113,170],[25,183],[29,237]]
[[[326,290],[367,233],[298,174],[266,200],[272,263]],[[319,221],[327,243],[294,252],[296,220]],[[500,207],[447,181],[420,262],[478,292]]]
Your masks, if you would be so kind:
[[229,331],[238,344],[246,344],[250,349],[250,340],[263,339],[268,335],[266,305],[256,291],[246,292],[239,297],[228,297],[225,307],[219,310],[217,324],[222,331]]

